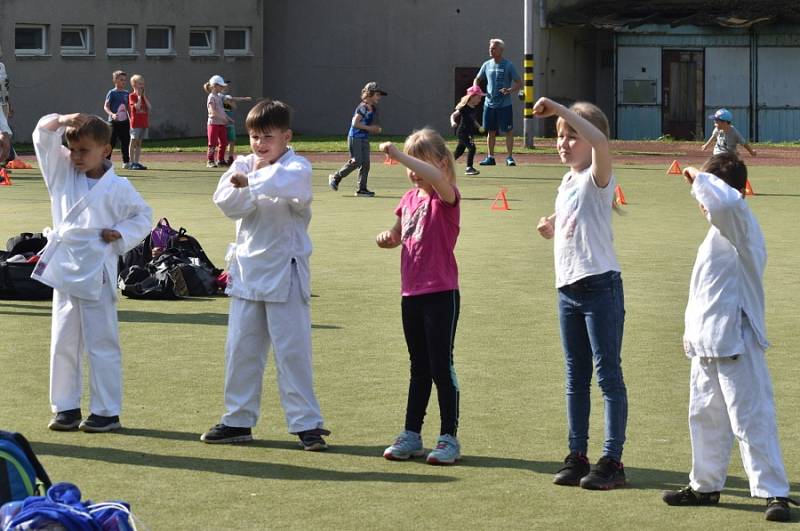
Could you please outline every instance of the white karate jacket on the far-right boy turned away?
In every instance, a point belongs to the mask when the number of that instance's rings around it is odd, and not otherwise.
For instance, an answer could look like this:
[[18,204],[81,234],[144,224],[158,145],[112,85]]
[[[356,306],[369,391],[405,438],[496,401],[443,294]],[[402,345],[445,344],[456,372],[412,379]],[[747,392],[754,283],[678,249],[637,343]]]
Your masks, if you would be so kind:
[[686,306],[684,350],[688,357],[745,353],[742,314],[766,349],[764,235],[739,191],[710,173],[700,173],[692,194],[711,223],[697,251]]

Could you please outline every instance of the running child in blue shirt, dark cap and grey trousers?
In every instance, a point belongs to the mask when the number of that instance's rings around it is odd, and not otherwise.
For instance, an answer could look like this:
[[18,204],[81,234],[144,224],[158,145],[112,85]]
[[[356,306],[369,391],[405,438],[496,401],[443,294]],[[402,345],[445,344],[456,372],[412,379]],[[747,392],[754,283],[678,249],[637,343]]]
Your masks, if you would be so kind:
[[374,192],[367,189],[369,178],[369,134],[379,134],[381,126],[375,123],[378,113],[378,102],[381,97],[388,96],[386,91],[378,86],[375,81],[370,81],[361,89],[361,103],[356,107],[353,119],[350,121],[350,131],[347,134],[347,146],[350,150],[350,160],[339,171],[328,175],[328,185],[334,192],[339,190],[339,183],[350,175],[356,168],[358,170],[358,189],[356,197],[373,197]]

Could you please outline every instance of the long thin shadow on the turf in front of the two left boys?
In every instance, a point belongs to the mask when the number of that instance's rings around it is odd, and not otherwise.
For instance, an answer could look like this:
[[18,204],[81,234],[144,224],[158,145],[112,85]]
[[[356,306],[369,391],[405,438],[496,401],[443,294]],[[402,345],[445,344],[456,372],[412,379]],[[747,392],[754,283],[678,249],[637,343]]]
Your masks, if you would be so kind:
[[[133,430],[127,430],[133,431]],[[124,433],[123,431],[120,432]],[[185,434],[193,435],[193,434]],[[194,440],[196,436],[193,435]],[[202,444],[197,441],[197,444]],[[313,481],[379,481],[390,483],[449,483],[456,481],[450,476],[431,476],[422,474],[398,474],[389,472],[345,472],[326,468],[287,465],[284,463],[264,463],[237,459],[217,459],[183,455],[163,455],[133,452],[118,448],[85,447],[73,444],[32,442],[39,455],[69,457],[87,461],[102,461],[121,465],[157,467],[197,472],[212,472],[231,476],[253,477],[279,480]],[[297,449],[298,452],[301,450]]]

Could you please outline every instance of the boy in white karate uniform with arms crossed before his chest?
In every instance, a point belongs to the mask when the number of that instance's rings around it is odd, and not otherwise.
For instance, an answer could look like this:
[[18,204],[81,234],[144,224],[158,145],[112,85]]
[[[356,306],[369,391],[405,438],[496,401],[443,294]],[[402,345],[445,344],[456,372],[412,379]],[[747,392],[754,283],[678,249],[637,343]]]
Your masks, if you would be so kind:
[[323,450],[330,432],[322,428],[311,365],[311,165],[288,146],[286,104],[261,101],[245,124],[252,153],[234,161],[214,193],[214,203],[236,221],[227,257],[226,412],[200,439],[253,440],[271,344],[289,432],[304,449]]

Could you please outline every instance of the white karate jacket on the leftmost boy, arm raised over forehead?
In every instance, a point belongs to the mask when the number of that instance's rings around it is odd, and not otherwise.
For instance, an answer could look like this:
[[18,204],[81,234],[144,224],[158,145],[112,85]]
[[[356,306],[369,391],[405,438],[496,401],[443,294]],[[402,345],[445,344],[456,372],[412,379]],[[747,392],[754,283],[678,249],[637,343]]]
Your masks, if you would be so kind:
[[[55,116],[41,118],[33,132],[50,193],[53,228],[31,278],[75,297],[98,300],[104,279],[116,285],[119,256],[150,232],[152,210],[130,181],[114,173],[110,162],[90,190],[86,175],[75,169],[62,144],[64,128],[43,128]],[[122,237],[106,243],[103,229],[116,230]]]

